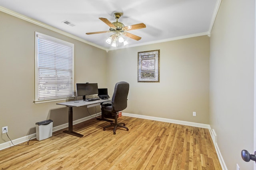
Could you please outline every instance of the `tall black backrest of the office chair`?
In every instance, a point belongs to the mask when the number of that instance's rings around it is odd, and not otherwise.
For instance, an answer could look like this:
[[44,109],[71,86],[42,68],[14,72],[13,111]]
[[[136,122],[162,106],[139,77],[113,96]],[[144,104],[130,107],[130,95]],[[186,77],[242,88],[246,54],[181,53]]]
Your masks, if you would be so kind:
[[127,107],[127,96],[129,92],[128,82],[116,83],[114,94],[112,97],[113,111],[122,111]]

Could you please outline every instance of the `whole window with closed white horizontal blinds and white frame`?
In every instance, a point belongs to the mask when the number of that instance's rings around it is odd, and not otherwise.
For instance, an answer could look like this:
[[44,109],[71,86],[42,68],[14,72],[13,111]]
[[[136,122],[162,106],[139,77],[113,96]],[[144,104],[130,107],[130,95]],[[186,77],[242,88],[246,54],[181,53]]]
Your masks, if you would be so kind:
[[74,44],[35,32],[35,103],[74,98]]

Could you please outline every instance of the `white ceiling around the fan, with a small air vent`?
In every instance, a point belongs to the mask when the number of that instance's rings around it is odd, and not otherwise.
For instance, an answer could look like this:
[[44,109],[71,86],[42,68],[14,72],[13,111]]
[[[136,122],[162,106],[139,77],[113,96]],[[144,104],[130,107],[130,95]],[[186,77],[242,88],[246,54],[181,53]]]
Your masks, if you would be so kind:
[[[106,50],[113,48],[105,41],[113,33],[85,34],[109,30],[98,18],[114,22],[114,12],[121,12],[118,21],[125,26],[146,24],[146,28],[128,31],[142,37],[139,41],[127,38],[129,44],[124,47],[134,47],[210,34],[218,3],[220,0],[0,0],[0,6],[8,10]],[[75,26],[64,24],[65,20]]]

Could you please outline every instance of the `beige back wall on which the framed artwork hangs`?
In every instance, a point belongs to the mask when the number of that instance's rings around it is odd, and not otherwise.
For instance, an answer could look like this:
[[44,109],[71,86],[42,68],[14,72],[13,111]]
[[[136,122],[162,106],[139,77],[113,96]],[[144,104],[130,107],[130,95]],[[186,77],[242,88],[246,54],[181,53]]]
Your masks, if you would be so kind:
[[[209,124],[209,39],[202,36],[109,51],[109,91],[118,81],[130,84],[126,113]],[[160,82],[137,82],[138,52],[157,49]]]

